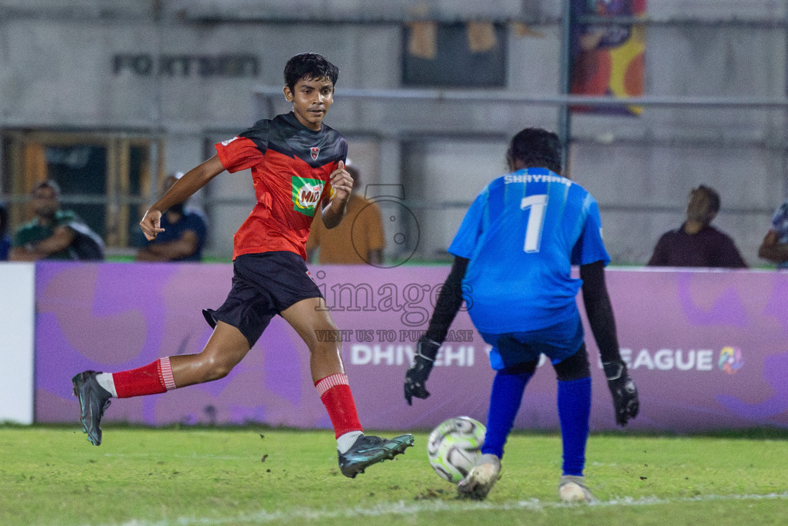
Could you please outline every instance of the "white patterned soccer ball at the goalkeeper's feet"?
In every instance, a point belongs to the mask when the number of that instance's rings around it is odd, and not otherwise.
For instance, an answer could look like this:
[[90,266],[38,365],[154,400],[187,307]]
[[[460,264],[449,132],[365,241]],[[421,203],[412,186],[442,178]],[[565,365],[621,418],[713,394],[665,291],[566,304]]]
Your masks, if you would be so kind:
[[441,479],[458,483],[481,457],[486,431],[485,426],[473,418],[449,418],[429,434],[429,464]]

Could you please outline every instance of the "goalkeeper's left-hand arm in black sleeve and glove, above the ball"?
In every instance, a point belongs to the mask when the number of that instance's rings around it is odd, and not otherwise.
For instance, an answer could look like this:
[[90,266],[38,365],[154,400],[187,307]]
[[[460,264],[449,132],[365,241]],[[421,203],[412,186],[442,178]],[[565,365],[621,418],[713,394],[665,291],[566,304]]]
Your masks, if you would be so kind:
[[408,406],[413,405],[413,397],[423,399],[429,396],[429,391],[426,390],[429,372],[433,370],[435,357],[446,338],[448,328],[452,325],[459,307],[463,305],[462,283],[468,261],[465,257],[454,258],[452,272],[449,272],[443,288],[440,289],[426,335],[418,340],[414,364],[405,373],[405,400]]

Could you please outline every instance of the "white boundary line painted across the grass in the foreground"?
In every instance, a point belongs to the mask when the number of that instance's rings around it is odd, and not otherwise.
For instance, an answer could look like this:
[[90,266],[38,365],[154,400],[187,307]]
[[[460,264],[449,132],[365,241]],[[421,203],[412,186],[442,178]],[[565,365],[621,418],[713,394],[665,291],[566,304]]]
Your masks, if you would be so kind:
[[[613,498],[604,502],[593,502],[588,506],[653,506],[658,504],[675,504],[680,502],[710,502],[710,501],[758,501],[788,499],[788,491],[782,493],[769,493],[767,495],[699,495],[697,497],[685,498],[657,498],[657,497],[621,497]],[[221,524],[236,523],[267,523],[274,521],[289,521],[293,519],[333,519],[333,518],[355,518],[355,517],[379,517],[381,515],[413,515],[414,513],[424,512],[463,512],[475,510],[507,511],[511,509],[528,509],[530,511],[543,511],[545,509],[557,509],[583,506],[578,504],[565,504],[563,502],[540,502],[533,498],[527,501],[504,502],[500,504],[492,502],[446,502],[443,500],[426,500],[406,504],[404,501],[389,504],[380,504],[370,508],[348,508],[348,509],[292,509],[290,511],[266,511],[263,509],[257,513],[238,515],[236,517],[208,518],[208,517],[179,517],[171,520],[128,520],[121,526],[219,526]]]

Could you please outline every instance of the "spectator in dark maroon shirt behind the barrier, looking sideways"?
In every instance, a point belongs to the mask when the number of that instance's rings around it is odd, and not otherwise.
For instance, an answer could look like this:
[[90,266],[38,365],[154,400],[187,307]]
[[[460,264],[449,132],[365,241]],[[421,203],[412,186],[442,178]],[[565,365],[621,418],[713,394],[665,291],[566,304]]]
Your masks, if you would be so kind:
[[656,243],[649,266],[746,269],[733,239],[711,226],[719,212],[719,194],[701,185],[689,191],[687,219]]

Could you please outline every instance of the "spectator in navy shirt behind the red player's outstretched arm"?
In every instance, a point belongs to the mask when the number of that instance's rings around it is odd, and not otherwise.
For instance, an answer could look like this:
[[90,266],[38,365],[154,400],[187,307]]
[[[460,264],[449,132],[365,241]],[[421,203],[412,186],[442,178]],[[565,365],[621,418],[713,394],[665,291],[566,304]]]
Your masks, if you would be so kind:
[[[183,176],[177,172],[164,180],[164,192]],[[137,261],[201,261],[208,235],[205,217],[195,209],[179,203],[162,214],[162,228],[153,241],[137,251]]]

